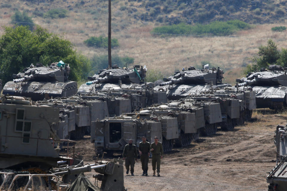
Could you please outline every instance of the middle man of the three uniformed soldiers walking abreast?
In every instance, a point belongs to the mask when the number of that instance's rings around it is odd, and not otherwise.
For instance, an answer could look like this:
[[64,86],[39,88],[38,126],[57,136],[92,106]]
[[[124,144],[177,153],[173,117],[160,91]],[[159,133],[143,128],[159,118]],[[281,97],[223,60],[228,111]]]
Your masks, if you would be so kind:
[[143,170],[143,173],[141,175],[147,176],[147,170],[148,170],[148,162],[149,162],[149,150],[150,150],[150,144],[146,141],[146,137],[143,136],[141,138],[142,142],[138,145],[138,152],[141,155],[141,168]]

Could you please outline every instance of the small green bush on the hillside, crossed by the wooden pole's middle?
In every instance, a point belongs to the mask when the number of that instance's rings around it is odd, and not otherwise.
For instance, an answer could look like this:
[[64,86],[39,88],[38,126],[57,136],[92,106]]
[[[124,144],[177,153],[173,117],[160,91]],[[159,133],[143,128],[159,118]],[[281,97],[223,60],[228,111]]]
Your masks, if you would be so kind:
[[[103,36],[99,36],[99,37],[90,37],[87,40],[84,41],[84,43],[88,46],[88,47],[97,47],[97,48],[108,48],[108,37],[103,37]],[[116,38],[112,38],[111,39],[111,47],[118,47],[119,43],[117,41]]]

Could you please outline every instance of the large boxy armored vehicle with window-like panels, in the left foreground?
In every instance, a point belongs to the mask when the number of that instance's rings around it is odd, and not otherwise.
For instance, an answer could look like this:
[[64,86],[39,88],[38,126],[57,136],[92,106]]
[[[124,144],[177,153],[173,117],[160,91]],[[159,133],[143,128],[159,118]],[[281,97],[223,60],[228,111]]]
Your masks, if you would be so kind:
[[0,108],[0,169],[21,169],[33,163],[47,170],[56,167],[57,161],[67,160],[59,156],[50,140],[59,109],[37,107],[18,96],[2,96]]

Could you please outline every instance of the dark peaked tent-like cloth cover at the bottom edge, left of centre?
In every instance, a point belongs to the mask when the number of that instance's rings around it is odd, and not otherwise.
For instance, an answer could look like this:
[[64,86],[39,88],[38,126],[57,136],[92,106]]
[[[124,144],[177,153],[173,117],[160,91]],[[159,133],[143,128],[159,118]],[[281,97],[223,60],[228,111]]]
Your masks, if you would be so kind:
[[71,186],[66,191],[99,191],[88,178],[84,175],[83,172],[80,173],[78,178],[71,184]]

